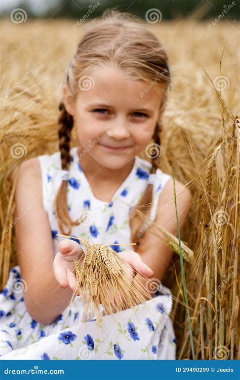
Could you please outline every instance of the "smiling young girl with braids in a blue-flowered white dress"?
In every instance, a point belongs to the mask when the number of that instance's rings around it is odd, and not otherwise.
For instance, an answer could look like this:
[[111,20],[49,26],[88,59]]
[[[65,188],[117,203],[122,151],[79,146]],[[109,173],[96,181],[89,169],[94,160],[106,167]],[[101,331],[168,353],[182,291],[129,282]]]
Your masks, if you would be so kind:
[[[176,358],[172,295],[161,284],[173,251],[144,231],[155,220],[177,235],[173,180],[158,168],[169,85],[167,54],[137,18],[108,12],[90,24],[66,69],[59,151],[20,167],[15,214],[28,212],[16,223],[19,265],[0,294],[1,359]],[[144,150],[151,162],[138,156]],[[176,193],[182,229],[191,195],[179,181]],[[137,243],[112,248],[154,297],[115,313],[117,323],[81,322],[81,296],[69,301],[83,249],[57,234]]]

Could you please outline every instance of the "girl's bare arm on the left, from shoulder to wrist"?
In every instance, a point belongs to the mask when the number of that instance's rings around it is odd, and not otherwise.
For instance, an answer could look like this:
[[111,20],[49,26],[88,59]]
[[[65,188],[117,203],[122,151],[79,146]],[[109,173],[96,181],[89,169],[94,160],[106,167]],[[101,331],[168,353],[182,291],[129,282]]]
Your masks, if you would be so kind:
[[26,160],[20,166],[15,204],[16,248],[25,305],[34,320],[50,324],[68,306],[72,290],[63,289],[54,276],[52,234],[43,208],[42,176],[37,158]]

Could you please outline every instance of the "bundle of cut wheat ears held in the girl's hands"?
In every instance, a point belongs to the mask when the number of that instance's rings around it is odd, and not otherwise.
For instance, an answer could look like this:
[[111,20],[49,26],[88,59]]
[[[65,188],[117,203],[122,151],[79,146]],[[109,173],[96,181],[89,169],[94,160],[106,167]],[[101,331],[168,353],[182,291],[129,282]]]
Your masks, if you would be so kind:
[[126,265],[110,245],[91,244],[85,239],[77,239],[86,249],[82,264],[79,264],[82,257],[74,260],[76,286],[70,304],[76,294],[81,295],[84,305],[83,321],[89,320],[92,313],[100,318],[102,313],[113,314],[151,299],[146,288],[140,281],[132,278]]

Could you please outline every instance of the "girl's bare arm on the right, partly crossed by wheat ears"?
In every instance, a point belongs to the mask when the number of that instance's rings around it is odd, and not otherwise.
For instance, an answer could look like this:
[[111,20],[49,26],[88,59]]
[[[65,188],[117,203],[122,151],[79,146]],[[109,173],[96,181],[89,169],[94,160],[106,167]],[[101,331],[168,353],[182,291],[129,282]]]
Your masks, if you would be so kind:
[[[192,196],[189,189],[181,182],[175,180],[175,184],[178,221],[181,233],[189,211]],[[163,226],[171,234],[178,236],[172,178],[166,183],[159,195],[155,222]],[[155,227],[153,227],[153,230],[166,240],[166,237],[159,230],[155,229]],[[166,271],[172,270],[170,269],[169,263],[173,255],[173,250],[151,234],[150,231],[146,231],[141,240],[139,246],[140,250],[138,252],[143,262],[153,270],[153,278],[162,281]],[[140,280],[146,288],[149,288],[146,284],[146,279],[139,275],[137,275],[136,278]]]

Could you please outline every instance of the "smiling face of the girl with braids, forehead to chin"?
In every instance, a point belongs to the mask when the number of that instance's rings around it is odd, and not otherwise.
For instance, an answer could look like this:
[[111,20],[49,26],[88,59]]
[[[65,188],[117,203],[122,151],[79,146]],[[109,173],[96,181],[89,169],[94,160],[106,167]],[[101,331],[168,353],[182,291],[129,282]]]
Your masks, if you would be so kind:
[[92,88],[79,89],[65,107],[83,150],[106,169],[119,169],[150,143],[164,92],[157,86],[145,92],[146,82],[130,80],[110,66],[92,78]]

